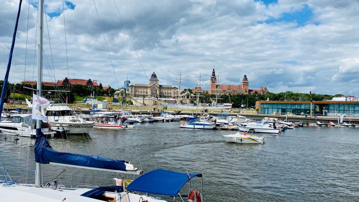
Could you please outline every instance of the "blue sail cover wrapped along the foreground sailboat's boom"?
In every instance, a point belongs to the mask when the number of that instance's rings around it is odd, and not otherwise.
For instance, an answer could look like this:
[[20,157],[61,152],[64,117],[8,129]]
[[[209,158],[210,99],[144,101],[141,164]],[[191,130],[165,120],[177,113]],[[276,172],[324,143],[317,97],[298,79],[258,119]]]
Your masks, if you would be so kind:
[[50,162],[53,162],[75,166],[126,171],[124,160],[114,160],[99,156],[88,156],[55,151],[47,142],[45,134],[41,132],[41,129],[36,129],[35,161],[41,164],[49,164]]

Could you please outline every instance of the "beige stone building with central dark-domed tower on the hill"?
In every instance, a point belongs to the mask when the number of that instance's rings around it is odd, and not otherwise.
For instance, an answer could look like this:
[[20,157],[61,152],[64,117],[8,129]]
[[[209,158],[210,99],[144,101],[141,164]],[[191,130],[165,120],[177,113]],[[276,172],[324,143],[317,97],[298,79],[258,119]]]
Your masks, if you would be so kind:
[[171,85],[160,85],[155,72],[152,73],[148,84],[129,84],[130,97],[163,97],[171,98],[177,95],[177,87]]

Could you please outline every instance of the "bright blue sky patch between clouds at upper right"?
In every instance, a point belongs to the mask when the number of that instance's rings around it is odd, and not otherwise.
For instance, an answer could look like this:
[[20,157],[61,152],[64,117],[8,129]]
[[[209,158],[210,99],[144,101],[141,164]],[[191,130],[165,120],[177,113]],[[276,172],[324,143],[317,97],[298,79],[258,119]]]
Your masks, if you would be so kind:
[[[282,17],[275,19],[275,18],[270,18],[268,20],[265,21],[265,23],[270,24],[273,22],[297,22],[298,23],[298,27],[300,26],[304,26],[306,24],[306,22],[308,20],[311,19],[313,15],[313,12],[311,10],[311,8],[309,8],[309,6],[307,4],[304,4],[304,7],[302,8],[302,10],[293,12],[293,13],[283,13]],[[314,23],[316,25],[318,25],[318,23]]]

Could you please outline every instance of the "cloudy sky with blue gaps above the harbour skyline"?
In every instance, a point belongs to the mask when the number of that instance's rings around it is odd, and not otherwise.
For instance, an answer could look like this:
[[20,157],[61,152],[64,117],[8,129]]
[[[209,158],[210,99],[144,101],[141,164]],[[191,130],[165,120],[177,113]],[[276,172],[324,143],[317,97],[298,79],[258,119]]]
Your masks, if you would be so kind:
[[[0,7],[0,80],[18,5]],[[37,80],[37,5],[22,3],[10,82]],[[45,0],[45,10],[43,81],[118,88],[155,72],[160,84],[178,85],[182,73],[182,86],[201,74],[209,89],[214,68],[224,85],[246,74],[250,89],[359,94],[358,0]]]

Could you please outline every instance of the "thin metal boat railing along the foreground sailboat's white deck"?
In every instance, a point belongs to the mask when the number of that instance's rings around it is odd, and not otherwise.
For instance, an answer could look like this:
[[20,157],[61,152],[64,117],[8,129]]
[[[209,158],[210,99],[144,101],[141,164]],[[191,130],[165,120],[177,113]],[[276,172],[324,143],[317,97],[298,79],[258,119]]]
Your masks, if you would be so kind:
[[[5,168],[0,167],[1,175],[0,182],[3,182],[4,179],[8,181],[16,181],[20,184],[34,184],[34,170],[26,169],[17,169],[17,168]],[[27,173],[28,172],[28,173]],[[60,175],[59,175],[60,174]],[[50,182],[53,178],[56,178],[59,182],[60,187],[65,188],[94,188],[101,186],[114,185],[115,181],[113,178],[105,178],[99,176],[89,176],[89,175],[78,175],[78,174],[68,174],[68,173],[59,173],[52,171],[41,171],[41,184],[44,185],[47,182]],[[86,178],[87,180],[84,180]],[[91,182],[91,183],[79,183],[79,182]]]

